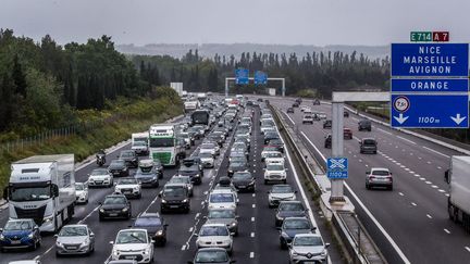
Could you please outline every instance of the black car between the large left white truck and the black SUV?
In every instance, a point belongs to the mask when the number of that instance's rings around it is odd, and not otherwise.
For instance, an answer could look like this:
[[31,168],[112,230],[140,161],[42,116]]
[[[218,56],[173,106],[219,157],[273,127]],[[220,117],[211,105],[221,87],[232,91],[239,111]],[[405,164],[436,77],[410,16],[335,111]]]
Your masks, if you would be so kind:
[[131,219],[131,202],[124,194],[109,194],[99,206],[99,221],[106,218],[125,218]]

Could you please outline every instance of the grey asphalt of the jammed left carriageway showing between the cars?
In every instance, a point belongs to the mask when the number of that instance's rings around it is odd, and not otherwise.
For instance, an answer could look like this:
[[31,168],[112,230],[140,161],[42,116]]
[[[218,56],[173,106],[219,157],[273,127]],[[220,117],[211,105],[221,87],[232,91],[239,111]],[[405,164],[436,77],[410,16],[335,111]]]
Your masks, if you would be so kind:
[[[237,263],[286,263],[288,260],[288,252],[281,250],[279,243],[279,231],[274,227],[274,213],[273,209],[268,208],[268,190],[271,186],[263,184],[263,171],[260,153],[263,146],[263,137],[259,133],[259,111],[256,111],[253,120],[252,135],[251,135],[251,152],[250,152],[250,172],[257,178],[256,193],[239,193],[238,215],[239,221],[239,235],[234,238],[234,253],[233,260]],[[230,139],[232,139],[231,133]],[[188,154],[197,151],[197,146],[201,140],[198,140],[196,146],[188,150]],[[210,189],[218,183],[220,176],[226,175],[227,149],[230,149],[230,140],[224,144],[221,150],[221,155],[215,162],[215,167],[205,169],[205,177],[200,186],[195,186],[194,197],[191,198],[191,211],[189,214],[164,214],[168,227],[168,243],[165,247],[156,248],[154,260],[156,263],[187,263],[193,260],[196,247],[195,234],[198,232],[200,226],[205,223],[203,216],[207,214],[206,199]],[[108,154],[108,164],[112,159],[119,155],[121,150],[129,149],[129,144],[114,150]],[[287,147],[286,147],[287,148]],[[295,178],[295,168],[292,166],[292,161],[286,158],[289,171],[287,172],[287,183],[294,186],[298,193],[304,193],[299,189],[298,180]],[[108,165],[107,164],[107,165]],[[87,174],[89,174],[97,165],[91,162],[84,167],[76,171],[76,180],[86,181]],[[133,174],[132,171],[131,174]],[[141,212],[159,212],[160,199],[158,192],[161,190],[165,181],[175,174],[175,168],[165,168],[164,177],[160,180],[160,187],[156,189],[144,189],[143,198],[139,200],[132,200],[133,216],[137,216]],[[52,236],[42,237],[42,244],[36,251],[20,251],[0,253],[0,263],[9,263],[15,260],[25,260],[39,257],[42,263],[106,263],[110,259],[112,246],[109,243],[113,241],[115,235],[120,229],[127,228],[131,221],[98,221],[98,202],[103,201],[107,194],[112,193],[113,188],[94,188],[89,190],[89,203],[85,205],[77,205],[75,208],[75,216],[72,223],[88,224],[91,230],[96,234],[96,251],[90,256],[62,256],[58,259],[54,254],[55,239]],[[298,199],[301,200],[298,194]],[[302,199],[307,201],[307,199]],[[309,215],[313,219],[316,211],[309,208]],[[8,210],[0,212],[0,226],[3,226],[8,221]],[[314,221],[313,221],[314,222]],[[326,232],[324,225],[319,224],[319,230]],[[325,241],[331,242],[331,241]],[[331,257],[333,263],[341,263],[337,249],[332,244],[330,248]]]

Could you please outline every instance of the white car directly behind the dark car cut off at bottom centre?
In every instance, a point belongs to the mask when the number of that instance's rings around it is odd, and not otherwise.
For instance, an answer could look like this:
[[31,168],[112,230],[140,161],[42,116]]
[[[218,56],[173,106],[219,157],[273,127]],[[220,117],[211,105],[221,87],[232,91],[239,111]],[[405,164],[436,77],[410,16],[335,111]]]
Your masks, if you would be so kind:
[[224,224],[206,224],[197,234],[196,247],[200,248],[223,248],[228,254],[233,252],[233,236]]

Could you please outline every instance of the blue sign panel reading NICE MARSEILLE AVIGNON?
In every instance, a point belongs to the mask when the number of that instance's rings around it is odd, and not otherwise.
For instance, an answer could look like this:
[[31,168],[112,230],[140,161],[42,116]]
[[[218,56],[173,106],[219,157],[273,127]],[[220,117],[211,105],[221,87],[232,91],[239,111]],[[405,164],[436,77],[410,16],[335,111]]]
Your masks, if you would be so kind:
[[468,43],[392,43],[392,76],[468,76]]

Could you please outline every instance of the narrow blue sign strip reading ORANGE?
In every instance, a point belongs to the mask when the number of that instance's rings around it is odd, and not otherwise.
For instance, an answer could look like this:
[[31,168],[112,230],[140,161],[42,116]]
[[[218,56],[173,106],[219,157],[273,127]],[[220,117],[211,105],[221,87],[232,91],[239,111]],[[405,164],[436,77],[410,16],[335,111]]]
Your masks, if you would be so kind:
[[468,92],[469,79],[392,79],[392,92]]

